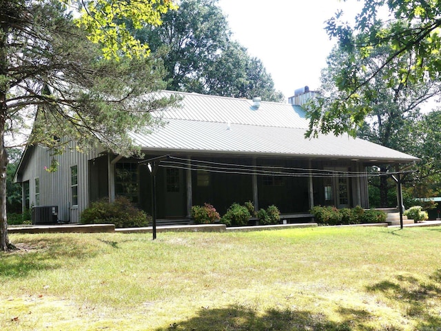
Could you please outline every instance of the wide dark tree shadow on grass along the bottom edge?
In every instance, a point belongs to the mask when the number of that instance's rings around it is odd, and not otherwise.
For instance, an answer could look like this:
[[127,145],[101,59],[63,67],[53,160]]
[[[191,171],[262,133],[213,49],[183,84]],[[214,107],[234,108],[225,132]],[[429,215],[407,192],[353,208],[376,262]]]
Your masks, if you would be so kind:
[[[265,314],[256,314],[249,308],[240,306],[229,306],[223,309],[201,309],[196,317],[185,321],[175,321],[166,328],[158,328],[156,331],[172,330],[198,330],[198,331],[350,331],[363,330],[373,331],[378,328],[371,328],[364,325],[365,321],[371,319],[371,314],[365,310],[353,310],[342,308],[340,316],[341,323],[329,321],[325,314],[313,314],[301,310],[267,310]],[[398,328],[387,328],[387,330],[400,330]]]

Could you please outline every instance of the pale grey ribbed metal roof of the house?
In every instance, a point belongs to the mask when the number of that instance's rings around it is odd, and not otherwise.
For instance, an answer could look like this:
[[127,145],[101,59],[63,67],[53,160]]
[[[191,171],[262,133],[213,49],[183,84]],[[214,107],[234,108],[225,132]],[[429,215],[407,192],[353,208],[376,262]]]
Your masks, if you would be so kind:
[[[170,92],[167,92],[170,93]],[[305,112],[288,103],[183,95],[180,108],[155,112],[165,126],[132,134],[144,151],[209,152],[409,162],[418,158],[348,135],[305,139]]]

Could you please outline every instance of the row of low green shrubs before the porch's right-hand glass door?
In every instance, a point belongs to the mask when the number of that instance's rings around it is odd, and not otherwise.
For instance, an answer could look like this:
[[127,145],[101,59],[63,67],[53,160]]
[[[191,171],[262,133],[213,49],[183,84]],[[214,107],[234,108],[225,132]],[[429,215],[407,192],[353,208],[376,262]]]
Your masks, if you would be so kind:
[[323,225],[384,223],[386,214],[381,210],[364,210],[359,205],[355,208],[342,208],[315,205],[309,211],[317,223]]

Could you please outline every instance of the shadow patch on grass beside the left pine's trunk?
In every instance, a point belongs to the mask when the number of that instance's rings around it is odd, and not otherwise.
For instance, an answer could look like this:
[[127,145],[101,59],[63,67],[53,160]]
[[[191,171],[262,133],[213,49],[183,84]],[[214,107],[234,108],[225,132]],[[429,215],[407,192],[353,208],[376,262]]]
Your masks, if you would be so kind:
[[54,270],[67,259],[94,257],[98,250],[72,237],[25,239],[14,243],[19,250],[0,254],[0,279],[25,278],[35,272]]

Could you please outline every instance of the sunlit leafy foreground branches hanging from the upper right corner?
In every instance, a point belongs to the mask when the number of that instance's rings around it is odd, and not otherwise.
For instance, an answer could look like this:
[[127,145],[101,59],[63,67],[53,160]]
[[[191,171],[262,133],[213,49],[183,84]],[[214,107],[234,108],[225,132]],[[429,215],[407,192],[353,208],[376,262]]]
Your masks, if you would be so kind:
[[[341,21],[337,12],[327,22],[329,37],[338,40],[348,56],[336,77],[339,97],[322,103],[322,113],[313,112],[308,135],[318,132],[349,132],[356,135],[371,104],[362,97],[362,90],[372,81],[384,81],[386,86],[402,86],[440,81],[441,72],[441,6],[439,1],[365,1],[356,24]],[[380,8],[388,10],[386,22]],[[386,48],[387,56],[378,58],[378,50]],[[375,59],[376,69],[366,72],[365,61]]]

